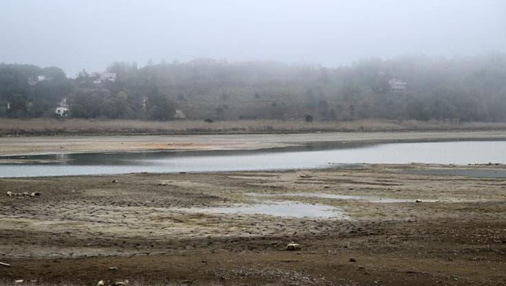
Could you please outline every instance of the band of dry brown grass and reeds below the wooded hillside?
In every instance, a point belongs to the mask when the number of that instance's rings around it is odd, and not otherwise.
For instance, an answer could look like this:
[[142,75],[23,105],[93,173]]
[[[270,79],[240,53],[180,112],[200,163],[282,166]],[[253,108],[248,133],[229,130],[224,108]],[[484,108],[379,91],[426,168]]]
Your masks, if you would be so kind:
[[12,120],[0,119],[0,135],[92,135],[92,134],[202,134],[202,133],[306,133],[375,131],[505,130],[506,122],[443,122],[416,120],[358,120],[350,122],[304,122],[237,120],[213,123],[182,120]]

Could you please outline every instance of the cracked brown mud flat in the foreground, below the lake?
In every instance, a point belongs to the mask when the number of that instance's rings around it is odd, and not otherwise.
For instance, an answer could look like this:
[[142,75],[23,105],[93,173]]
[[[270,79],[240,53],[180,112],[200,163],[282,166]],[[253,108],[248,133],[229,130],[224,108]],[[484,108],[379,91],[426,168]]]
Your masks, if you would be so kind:
[[[0,284],[506,285],[506,179],[436,167],[0,179]],[[209,211],[266,201],[340,216]]]

